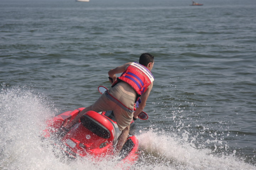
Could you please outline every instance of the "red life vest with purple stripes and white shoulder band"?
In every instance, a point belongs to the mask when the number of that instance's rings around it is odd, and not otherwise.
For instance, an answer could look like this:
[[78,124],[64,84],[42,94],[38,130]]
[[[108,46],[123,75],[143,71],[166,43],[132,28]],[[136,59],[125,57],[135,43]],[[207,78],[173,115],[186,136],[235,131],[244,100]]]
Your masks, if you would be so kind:
[[132,64],[127,67],[126,71],[117,78],[117,81],[113,83],[112,87],[120,81],[128,83],[136,93],[141,96],[146,92],[151,82],[154,81],[154,76],[145,66],[137,62],[132,62]]

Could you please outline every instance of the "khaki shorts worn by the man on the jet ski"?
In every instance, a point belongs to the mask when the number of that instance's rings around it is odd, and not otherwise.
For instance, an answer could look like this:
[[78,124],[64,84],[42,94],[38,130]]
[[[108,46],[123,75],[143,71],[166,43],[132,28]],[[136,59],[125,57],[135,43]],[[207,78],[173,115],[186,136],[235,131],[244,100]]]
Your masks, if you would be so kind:
[[92,105],[92,110],[96,112],[113,110],[118,128],[122,131],[133,119],[135,97],[124,93],[117,85],[102,94]]

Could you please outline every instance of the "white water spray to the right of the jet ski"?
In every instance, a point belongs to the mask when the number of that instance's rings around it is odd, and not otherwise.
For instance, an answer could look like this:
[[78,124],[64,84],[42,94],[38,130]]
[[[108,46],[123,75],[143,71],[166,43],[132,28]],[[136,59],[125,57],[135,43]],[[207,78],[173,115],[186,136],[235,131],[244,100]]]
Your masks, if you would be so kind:
[[175,134],[149,130],[138,139],[142,149],[140,159],[150,160],[149,169],[256,169],[236,158],[235,153],[217,155],[210,149],[198,149]]

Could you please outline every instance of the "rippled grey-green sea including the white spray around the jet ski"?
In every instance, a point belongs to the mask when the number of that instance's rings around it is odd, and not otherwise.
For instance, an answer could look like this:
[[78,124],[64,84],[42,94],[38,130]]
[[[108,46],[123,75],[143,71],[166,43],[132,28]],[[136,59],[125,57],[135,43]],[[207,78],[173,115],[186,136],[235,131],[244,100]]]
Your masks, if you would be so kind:
[[60,159],[39,136],[145,52],[155,82],[131,169],[256,169],[255,0],[198,3],[0,0],[0,170],[118,169]]

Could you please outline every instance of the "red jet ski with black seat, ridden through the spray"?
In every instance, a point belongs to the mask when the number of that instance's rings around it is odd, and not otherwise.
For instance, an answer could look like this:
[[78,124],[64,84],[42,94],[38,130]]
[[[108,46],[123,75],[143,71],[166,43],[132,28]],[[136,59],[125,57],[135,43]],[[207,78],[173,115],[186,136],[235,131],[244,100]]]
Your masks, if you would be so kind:
[[[102,94],[106,91],[103,86],[98,87]],[[88,111],[81,116],[79,122],[69,129],[65,129],[75,117],[85,108],[74,111],[66,111],[53,119],[47,121],[47,129],[43,131],[43,138],[49,140],[61,149],[65,155],[71,158],[86,157],[101,159],[113,155],[113,149],[117,144],[119,131],[113,111],[96,113]],[[135,108],[134,108],[135,109]],[[138,115],[140,119],[148,119],[148,115],[142,112]],[[135,122],[130,124],[130,132],[119,156],[122,164],[130,166],[138,160],[138,139],[135,135]]]

